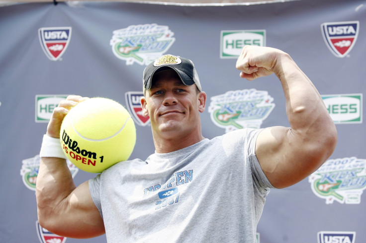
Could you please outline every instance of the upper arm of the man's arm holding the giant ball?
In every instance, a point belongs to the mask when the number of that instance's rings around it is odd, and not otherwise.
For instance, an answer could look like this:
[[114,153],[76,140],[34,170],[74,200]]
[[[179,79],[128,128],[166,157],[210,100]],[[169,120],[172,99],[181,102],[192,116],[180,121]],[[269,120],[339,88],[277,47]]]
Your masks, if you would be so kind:
[[[58,212],[59,211],[59,212]],[[55,209],[58,216],[53,233],[71,238],[92,238],[105,233],[103,219],[89,190],[89,182],[80,184]]]

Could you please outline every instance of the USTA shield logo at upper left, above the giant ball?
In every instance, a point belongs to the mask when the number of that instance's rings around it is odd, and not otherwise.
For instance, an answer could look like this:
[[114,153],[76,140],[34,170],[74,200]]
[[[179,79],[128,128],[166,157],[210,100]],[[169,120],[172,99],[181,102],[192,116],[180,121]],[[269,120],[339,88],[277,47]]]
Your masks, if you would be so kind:
[[46,27],[38,29],[39,42],[47,58],[61,60],[71,39],[71,27]]

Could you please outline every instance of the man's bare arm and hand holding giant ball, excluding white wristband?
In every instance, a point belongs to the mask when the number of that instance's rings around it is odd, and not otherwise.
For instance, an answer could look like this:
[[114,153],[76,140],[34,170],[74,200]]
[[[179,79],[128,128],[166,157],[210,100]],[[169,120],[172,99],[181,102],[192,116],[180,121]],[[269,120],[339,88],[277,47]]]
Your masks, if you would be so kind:
[[[48,123],[47,135],[59,138],[63,118],[84,99],[69,96],[61,101]],[[76,187],[65,159],[41,158],[36,198],[39,224],[54,234],[71,238],[104,234],[103,220],[91,199],[88,182]]]

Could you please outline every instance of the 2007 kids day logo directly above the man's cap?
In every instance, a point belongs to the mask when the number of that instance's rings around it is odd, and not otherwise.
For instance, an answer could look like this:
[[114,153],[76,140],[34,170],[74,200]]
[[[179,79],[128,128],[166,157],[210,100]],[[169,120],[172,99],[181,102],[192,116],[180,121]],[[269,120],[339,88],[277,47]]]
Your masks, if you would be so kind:
[[168,26],[157,24],[130,25],[113,31],[110,45],[113,54],[126,61],[127,65],[137,62],[147,65],[159,58],[176,40]]

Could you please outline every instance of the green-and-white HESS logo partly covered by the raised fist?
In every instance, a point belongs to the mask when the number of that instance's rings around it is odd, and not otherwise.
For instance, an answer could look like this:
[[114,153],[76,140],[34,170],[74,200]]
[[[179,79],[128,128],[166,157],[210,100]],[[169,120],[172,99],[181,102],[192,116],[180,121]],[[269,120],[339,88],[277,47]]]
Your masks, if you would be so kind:
[[244,46],[266,46],[266,30],[222,30],[220,58],[236,59]]

